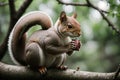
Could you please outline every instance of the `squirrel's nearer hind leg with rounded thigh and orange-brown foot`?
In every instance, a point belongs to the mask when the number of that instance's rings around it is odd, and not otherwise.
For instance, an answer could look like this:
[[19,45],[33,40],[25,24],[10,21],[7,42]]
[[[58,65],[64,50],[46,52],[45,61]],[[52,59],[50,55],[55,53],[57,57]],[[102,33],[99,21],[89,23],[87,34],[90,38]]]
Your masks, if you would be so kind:
[[38,70],[41,74],[46,73],[44,66],[44,54],[41,47],[32,42],[26,46],[26,63],[32,68]]

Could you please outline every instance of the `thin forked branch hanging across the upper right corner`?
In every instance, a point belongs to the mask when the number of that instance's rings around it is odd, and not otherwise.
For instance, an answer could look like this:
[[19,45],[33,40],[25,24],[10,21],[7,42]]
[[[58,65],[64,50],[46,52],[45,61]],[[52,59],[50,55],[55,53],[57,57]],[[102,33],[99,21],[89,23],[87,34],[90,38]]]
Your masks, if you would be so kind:
[[105,16],[105,14],[104,13],[109,13],[109,12],[107,12],[107,11],[104,11],[104,10],[101,10],[101,9],[99,9],[98,7],[96,7],[96,6],[94,6],[91,2],[90,2],[90,0],[86,0],[86,2],[87,3],[83,3],[83,4],[81,4],[81,3],[68,3],[68,2],[63,2],[62,0],[57,0],[60,4],[64,4],[64,5],[73,5],[73,6],[86,6],[86,7],[91,7],[91,8],[93,8],[93,9],[95,9],[95,10],[97,10],[100,14],[101,14],[101,16],[103,17],[103,19],[108,23],[108,26],[109,27],[111,27],[117,34],[119,34],[120,35],[120,30],[119,29],[117,29],[116,27],[115,27],[115,25]]

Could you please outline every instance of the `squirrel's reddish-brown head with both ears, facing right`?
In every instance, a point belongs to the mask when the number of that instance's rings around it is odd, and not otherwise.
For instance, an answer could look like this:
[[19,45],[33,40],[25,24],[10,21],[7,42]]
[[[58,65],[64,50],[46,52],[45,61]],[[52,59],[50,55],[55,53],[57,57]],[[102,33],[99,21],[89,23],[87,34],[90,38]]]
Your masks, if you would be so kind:
[[61,12],[59,18],[59,31],[60,33],[70,36],[70,37],[78,37],[81,35],[80,24],[76,20],[77,14],[74,13],[72,16],[67,16],[64,11]]

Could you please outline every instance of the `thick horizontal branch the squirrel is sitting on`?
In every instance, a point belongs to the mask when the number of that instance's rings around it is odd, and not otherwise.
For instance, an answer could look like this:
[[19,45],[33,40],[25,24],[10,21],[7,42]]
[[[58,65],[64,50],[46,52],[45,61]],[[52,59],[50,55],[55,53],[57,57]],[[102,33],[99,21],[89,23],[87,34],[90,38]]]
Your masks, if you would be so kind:
[[[1,79],[20,79],[20,80],[112,80],[115,73],[97,73],[68,69],[60,71],[49,69],[46,75],[40,75],[28,67],[8,65],[0,62]],[[120,74],[116,80],[120,80]]]

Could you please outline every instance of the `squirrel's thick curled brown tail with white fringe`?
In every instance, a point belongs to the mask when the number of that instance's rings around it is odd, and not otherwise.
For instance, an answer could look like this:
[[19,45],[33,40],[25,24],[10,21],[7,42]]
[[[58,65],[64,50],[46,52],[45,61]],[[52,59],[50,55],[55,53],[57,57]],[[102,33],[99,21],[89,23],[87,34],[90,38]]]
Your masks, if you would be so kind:
[[42,29],[50,28],[53,23],[46,13],[33,11],[22,16],[15,24],[8,41],[8,50],[14,63],[26,65],[24,60],[26,32],[33,25],[41,25]]

